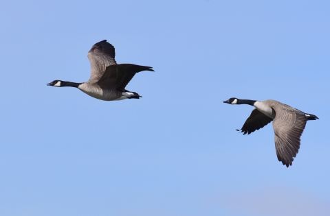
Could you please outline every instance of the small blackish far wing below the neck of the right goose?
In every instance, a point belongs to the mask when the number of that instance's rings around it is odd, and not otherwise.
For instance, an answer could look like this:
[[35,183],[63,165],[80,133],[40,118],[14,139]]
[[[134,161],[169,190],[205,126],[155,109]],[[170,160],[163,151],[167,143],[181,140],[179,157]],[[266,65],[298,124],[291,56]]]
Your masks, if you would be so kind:
[[263,112],[260,112],[257,109],[252,110],[250,117],[246,119],[241,132],[243,132],[243,135],[245,134],[251,134],[252,132],[259,130],[260,128],[265,127],[268,123],[273,121],[272,118],[267,117],[267,115],[263,114]]

